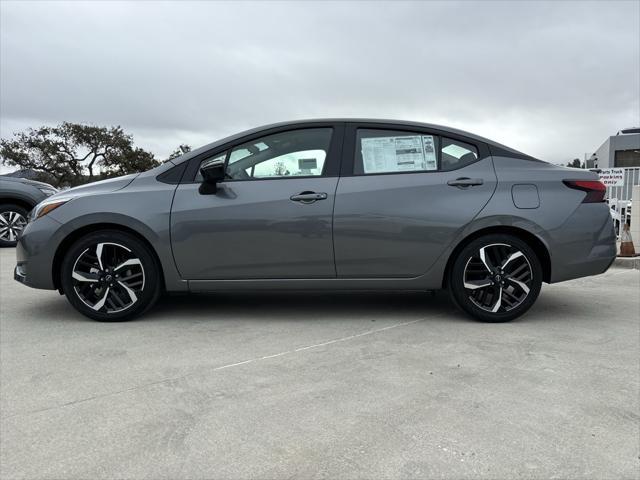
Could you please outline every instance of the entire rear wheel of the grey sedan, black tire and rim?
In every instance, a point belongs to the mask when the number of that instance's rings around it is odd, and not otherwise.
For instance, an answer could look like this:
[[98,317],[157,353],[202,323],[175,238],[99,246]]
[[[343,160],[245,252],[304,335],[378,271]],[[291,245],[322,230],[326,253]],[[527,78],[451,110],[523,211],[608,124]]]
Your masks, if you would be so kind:
[[[512,260],[501,269],[508,258]],[[518,237],[486,235],[469,242],[457,255],[448,286],[453,303],[465,313],[483,322],[508,322],[535,303],[542,287],[542,267],[533,249]]]

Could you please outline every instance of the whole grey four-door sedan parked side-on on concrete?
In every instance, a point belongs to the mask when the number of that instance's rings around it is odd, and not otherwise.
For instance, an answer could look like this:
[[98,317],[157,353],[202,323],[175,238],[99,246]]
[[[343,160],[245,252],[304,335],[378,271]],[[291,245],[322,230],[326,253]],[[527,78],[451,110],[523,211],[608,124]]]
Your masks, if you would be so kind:
[[501,322],[542,282],[607,270],[604,196],[592,172],[459,130],[280,123],[39,203],[15,278],[105,321],[162,292],[446,288],[468,314]]

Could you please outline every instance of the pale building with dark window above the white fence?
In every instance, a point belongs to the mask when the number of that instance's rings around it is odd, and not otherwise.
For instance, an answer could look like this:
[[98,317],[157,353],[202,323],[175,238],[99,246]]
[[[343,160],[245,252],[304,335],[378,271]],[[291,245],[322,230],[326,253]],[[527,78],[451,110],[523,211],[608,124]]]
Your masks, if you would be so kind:
[[640,167],[640,127],[625,128],[604,143],[587,160],[587,168]]

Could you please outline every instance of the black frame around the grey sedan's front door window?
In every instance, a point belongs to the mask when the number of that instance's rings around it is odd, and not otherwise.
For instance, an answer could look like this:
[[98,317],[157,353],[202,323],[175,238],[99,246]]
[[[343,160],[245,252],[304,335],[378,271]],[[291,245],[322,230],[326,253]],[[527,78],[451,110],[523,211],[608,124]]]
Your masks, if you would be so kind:
[[297,130],[314,130],[318,128],[328,128],[331,129],[331,141],[329,142],[329,149],[327,151],[327,156],[325,157],[325,163],[323,166],[323,172],[321,175],[300,175],[300,176],[284,176],[284,177],[263,177],[263,178],[239,178],[239,179],[225,179],[220,183],[233,183],[233,182],[259,182],[265,180],[289,180],[292,178],[328,178],[328,177],[337,177],[340,173],[341,161],[342,161],[342,149],[344,142],[344,134],[345,134],[345,124],[344,122],[313,122],[313,123],[304,123],[304,124],[289,124],[282,125],[274,128],[267,128],[265,130],[260,130],[258,132],[252,132],[249,135],[246,135],[242,138],[236,138],[230,142],[227,142],[223,145],[219,145],[216,148],[212,148],[206,152],[203,152],[190,160],[187,160],[189,164],[187,165],[185,172],[182,176],[181,184],[197,184],[199,185],[200,181],[196,179],[198,170],[200,168],[200,164],[203,160],[207,158],[212,158],[217,155],[221,155],[225,153],[225,170],[227,165],[229,164],[229,155],[231,150],[236,147],[239,147],[247,142],[251,142],[252,140],[257,140],[263,137],[268,137],[270,135],[276,135],[278,133],[284,132],[293,132]]

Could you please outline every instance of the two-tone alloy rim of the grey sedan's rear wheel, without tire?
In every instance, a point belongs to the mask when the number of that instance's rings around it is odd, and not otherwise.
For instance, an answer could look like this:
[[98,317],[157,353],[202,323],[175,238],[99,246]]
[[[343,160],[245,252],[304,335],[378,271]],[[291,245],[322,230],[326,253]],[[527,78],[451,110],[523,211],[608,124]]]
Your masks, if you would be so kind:
[[465,265],[464,288],[469,300],[484,311],[503,313],[525,301],[533,270],[526,255],[506,243],[478,249]]

